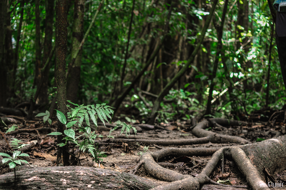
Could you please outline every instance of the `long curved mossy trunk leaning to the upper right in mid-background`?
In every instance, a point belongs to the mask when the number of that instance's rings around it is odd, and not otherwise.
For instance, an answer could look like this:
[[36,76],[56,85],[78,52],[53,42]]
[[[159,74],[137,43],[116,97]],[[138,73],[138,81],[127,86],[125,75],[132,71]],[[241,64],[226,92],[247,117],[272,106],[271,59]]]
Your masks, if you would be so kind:
[[206,33],[206,30],[208,29],[208,26],[210,24],[210,21],[212,19],[212,14],[215,12],[215,7],[217,5],[217,1],[215,0],[212,4],[212,8],[210,10],[210,14],[208,15],[206,22],[204,24],[204,27],[202,29],[200,38],[198,40],[198,43],[196,44],[196,48],[194,49],[194,51],[192,52],[188,62],[184,65],[184,67],[171,79],[170,82],[168,82],[168,84],[164,87],[164,89],[160,92],[160,94],[158,95],[158,98],[155,100],[154,102],[154,107],[152,109],[152,113],[150,115],[148,124],[153,124],[155,121],[155,118],[157,116],[157,111],[160,108],[160,103],[163,100],[164,96],[166,94],[168,94],[169,90],[172,88],[172,86],[174,86],[174,84],[176,83],[176,81],[186,72],[186,70],[188,69],[188,67],[190,66],[190,64],[193,62],[194,57],[196,56],[197,52],[199,49],[201,49],[201,44],[204,40],[204,35]]

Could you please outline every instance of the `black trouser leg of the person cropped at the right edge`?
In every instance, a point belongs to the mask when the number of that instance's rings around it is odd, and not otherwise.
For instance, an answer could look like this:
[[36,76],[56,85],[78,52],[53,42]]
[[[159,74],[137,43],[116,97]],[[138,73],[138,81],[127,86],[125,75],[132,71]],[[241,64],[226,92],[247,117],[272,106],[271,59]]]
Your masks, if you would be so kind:
[[277,44],[282,77],[286,89],[286,37],[278,37],[276,33],[276,44]]

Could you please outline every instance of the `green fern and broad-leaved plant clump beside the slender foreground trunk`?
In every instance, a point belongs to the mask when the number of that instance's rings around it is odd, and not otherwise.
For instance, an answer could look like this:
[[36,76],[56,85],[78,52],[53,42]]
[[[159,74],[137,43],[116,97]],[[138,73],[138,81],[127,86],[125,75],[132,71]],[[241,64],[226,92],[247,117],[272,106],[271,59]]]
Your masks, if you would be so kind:
[[[78,105],[75,103],[72,103],[68,100],[69,103],[75,105],[75,108],[68,107],[68,114],[67,119],[65,118],[65,115],[57,111],[57,118],[59,121],[63,124],[65,124],[66,130],[64,130],[64,134],[66,136],[63,137],[65,139],[65,143],[59,143],[57,146],[65,146],[66,144],[73,143],[75,146],[78,146],[78,149],[82,152],[89,152],[92,157],[93,161],[101,162],[103,159],[101,157],[106,157],[104,152],[101,152],[98,150],[98,144],[94,143],[94,139],[98,136],[95,136],[94,133],[92,133],[90,128],[90,119],[94,122],[94,124],[97,126],[97,118],[99,118],[103,124],[105,125],[105,120],[107,121],[108,118],[111,119],[114,111],[112,110],[112,107],[103,104],[96,104],[94,105]],[[84,127],[83,122],[86,121],[86,124],[88,126]],[[84,132],[84,139],[79,141],[78,138],[75,138],[76,132]],[[48,135],[63,135],[61,132],[52,132]],[[79,155],[78,155],[79,157]]]

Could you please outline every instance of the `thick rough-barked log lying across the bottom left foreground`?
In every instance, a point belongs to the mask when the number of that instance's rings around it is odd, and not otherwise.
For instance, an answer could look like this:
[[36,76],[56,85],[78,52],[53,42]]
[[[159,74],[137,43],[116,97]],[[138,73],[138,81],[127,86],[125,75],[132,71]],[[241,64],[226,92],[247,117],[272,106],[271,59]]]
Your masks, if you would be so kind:
[[151,189],[156,183],[137,175],[95,167],[36,167],[0,175],[0,189]]

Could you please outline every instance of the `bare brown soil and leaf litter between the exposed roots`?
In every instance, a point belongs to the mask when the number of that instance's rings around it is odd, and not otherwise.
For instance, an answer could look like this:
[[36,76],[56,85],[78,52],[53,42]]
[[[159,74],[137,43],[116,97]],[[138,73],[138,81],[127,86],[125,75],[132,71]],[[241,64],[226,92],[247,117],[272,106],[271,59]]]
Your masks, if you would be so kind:
[[[284,114],[283,114],[284,116]],[[42,120],[25,120],[21,118],[21,124],[17,124],[18,127],[15,132],[19,129],[39,129],[39,128],[50,128],[52,131],[56,129],[56,119],[52,118],[53,122],[49,125],[43,123]],[[112,123],[112,122],[111,122]],[[170,139],[186,139],[186,138],[196,138],[190,132],[190,124],[187,122],[172,122],[172,123],[160,123],[162,129],[153,129],[153,130],[143,130],[136,134],[136,139],[150,139],[150,140],[170,140]],[[9,127],[9,126],[8,126]],[[10,125],[11,127],[11,125]],[[7,128],[0,127],[1,131],[6,131]],[[103,137],[99,138],[101,142],[104,142],[109,135],[110,128],[99,127],[98,131],[94,131],[96,134],[101,134]],[[219,134],[239,136],[245,138],[251,142],[255,142],[258,138],[270,139],[273,138],[276,132],[279,131],[282,134],[285,134],[285,125],[282,125],[281,122],[274,122],[269,124],[269,122],[262,122],[257,120],[256,122],[248,122],[248,124],[243,124],[241,126],[230,126],[226,127],[215,127],[209,129],[212,132]],[[25,157],[25,160],[29,162],[30,165],[38,167],[49,167],[54,166],[56,161],[57,146],[56,146],[56,136],[47,136],[50,133],[50,130],[31,130],[30,132],[21,132],[21,133],[7,133],[3,134],[7,141],[11,141],[12,138],[17,138],[22,140],[24,144],[30,144],[34,142],[35,146],[30,150],[25,151],[29,154],[29,158]],[[79,136],[80,134],[76,134]],[[120,131],[114,131],[111,133],[112,136],[119,136]],[[122,138],[122,135],[120,135]],[[134,134],[130,134],[129,138],[134,137]],[[10,147],[8,146],[6,140],[3,136],[0,136],[0,152],[8,153]],[[112,140],[112,139],[111,139]],[[188,147],[225,147],[233,146],[236,144],[194,144],[194,145],[185,145],[185,146],[175,146],[178,148],[188,148]],[[173,146],[174,147],[174,146]],[[163,147],[164,148],[164,147]],[[160,147],[154,144],[148,143],[138,143],[138,142],[129,142],[122,143],[117,142],[116,144],[104,144],[100,146],[102,152],[106,152],[106,158],[103,158],[103,162],[100,164],[101,168],[121,171],[121,172],[130,172],[136,164],[139,162],[140,155],[143,152],[156,152]],[[87,166],[87,167],[98,167],[96,162],[92,161],[91,155],[82,153],[80,156],[80,163],[77,165]],[[192,176],[198,175],[201,170],[206,166],[208,160],[211,156],[199,157],[199,156],[181,156],[181,157],[166,157],[160,162],[172,163],[168,164],[166,167],[168,169],[173,169],[174,171],[182,174],[188,174]],[[13,169],[3,167],[0,165],[0,175],[3,173],[12,172]],[[221,166],[217,166],[210,178],[214,181],[217,181],[217,175],[221,172]],[[236,167],[234,162],[231,160],[226,160],[224,165],[224,173],[229,172],[230,175],[226,179],[229,180],[233,185],[247,185],[245,177],[240,173],[239,169]],[[167,182],[154,179],[150,175],[146,174],[144,170],[139,170],[136,175],[145,177],[152,181],[156,181],[159,184],[165,184]],[[274,176],[276,183],[283,183],[286,187],[286,171],[283,173],[277,174]],[[204,188],[204,187],[203,187]],[[279,189],[284,189],[279,187]],[[285,188],[286,189],[286,188]]]

